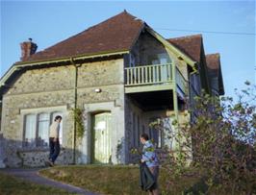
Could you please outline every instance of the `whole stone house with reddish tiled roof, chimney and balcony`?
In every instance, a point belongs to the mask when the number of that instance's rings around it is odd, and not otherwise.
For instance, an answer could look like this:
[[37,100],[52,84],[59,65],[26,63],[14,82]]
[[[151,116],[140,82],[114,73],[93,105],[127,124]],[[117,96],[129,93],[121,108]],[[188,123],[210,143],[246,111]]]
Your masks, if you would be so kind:
[[[224,93],[219,55],[204,54],[200,35],[166,39],[126,11],[43,51],[32,39],[21,49],[0,80],[0,162],[9,167],[44,165],[58,114],[59,164],[131,163],[141,133],[174,150],[149,124],[191,120],[185,113],[202,88]],[[83,111],[82,137],[74,109]]]

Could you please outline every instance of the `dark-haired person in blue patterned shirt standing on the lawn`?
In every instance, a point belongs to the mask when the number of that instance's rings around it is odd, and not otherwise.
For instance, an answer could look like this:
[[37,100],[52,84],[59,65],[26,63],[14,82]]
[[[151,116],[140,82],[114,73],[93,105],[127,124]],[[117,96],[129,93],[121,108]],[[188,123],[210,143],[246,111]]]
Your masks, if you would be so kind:
[[158,176],[159,176],[159,159],[155,152],[153,143],[149,140],[147,134],[141,134],[141,143],[143,144],[141,162],[145,162],[146,166],[152,173],[155,184],[149,189],[150,195],[159,195]]

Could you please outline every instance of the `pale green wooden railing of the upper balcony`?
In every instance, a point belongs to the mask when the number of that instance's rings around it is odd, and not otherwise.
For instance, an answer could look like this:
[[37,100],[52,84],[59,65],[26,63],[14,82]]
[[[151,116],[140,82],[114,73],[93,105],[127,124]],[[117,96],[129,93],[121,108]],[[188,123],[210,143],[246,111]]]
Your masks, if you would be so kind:
[[176,67],[173,81],[172,64],[151,64],[124,68],[125,86],[176,84],[185,93],[187,82]]

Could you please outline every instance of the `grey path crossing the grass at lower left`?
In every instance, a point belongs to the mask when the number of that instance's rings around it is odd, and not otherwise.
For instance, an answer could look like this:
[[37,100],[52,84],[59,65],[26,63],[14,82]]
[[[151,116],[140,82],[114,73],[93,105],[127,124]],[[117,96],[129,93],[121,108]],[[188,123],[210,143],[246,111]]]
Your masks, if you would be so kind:
[[16,178],[20,178],[32,183],[38,183],[42,185],[49,185],[52,187],[64,189],[68,192],[73,192],[77,194],[86,194],[86,195],[99,195],[93,192],[90,192],[88,190],[82,189],[80,187],[76,187],[70,184],[65,184],[65,183],[60,183],[56,182],[47,178],[44,178],[40,175],[38,175],[38,171],[40,169],[35,168],[35,169],[18,169],[18,168],[6,168],[6,169],[0,169],[0,172],[4,172],[10,175],[13,175]]

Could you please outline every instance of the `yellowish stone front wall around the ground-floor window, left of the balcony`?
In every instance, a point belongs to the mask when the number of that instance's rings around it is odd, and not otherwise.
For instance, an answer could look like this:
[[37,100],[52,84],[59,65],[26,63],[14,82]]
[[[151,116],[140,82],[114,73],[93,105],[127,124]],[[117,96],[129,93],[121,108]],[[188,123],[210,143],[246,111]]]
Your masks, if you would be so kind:
[[[123,60],[84,63],[78,67],[78,107],[88,103],[115,102],[123,105]],[[72,65],[27,70],[3,96],[2,130],[6,140],[6,164],[40,166],[47,150],[22,148],[24,114],[29,110],[64,109],[64,143],[57,163],[71,163],[75,68]],[[101,93],[95,93],[101,88]],[[79,144],[79,143],[78,143]],[[79,151],[77,152],[79,154]],[[34,157],[35,156],[35,157]]]

